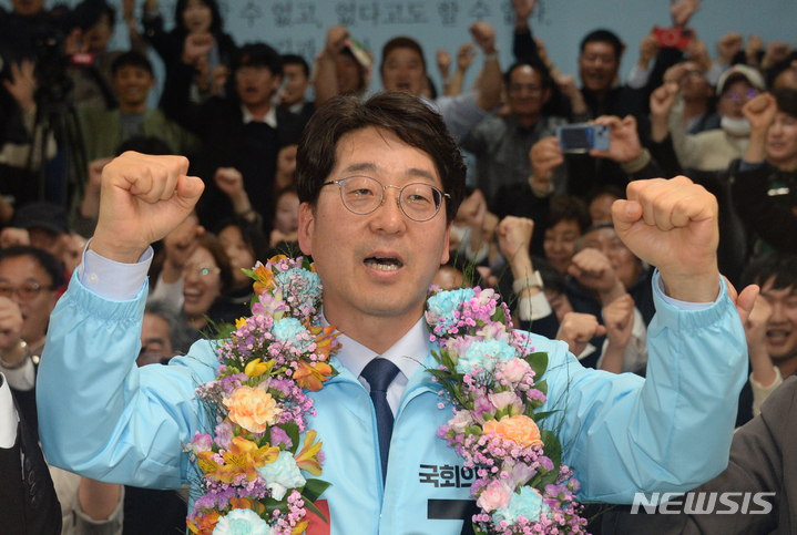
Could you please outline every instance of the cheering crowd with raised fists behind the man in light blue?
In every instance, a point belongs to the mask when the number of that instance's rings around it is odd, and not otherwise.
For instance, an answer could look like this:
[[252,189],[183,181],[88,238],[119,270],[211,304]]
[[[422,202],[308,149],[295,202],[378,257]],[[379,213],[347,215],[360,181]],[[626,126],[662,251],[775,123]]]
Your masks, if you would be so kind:
[[[786,460],[797,418],[789,379],[797,372],[797,50],[789,44],[738,33],[705,43],[691,23],[699,0],[674,0],[672,20],[662,21],[670,28],[645,35],[621,80],[622,35],[597,29],[580,43],[543,43],[530,23],[534,0],[512,2],[511,65],[500,64],[495,31],[484,22],[456,54],[432,55],[410,37],[366,51],[333,27],[323,52],[302,58],[266,42],[236,43],[215,0],[178,0],[171,31],[157,0],[143,8],[84,0],[53,11],[43,0],[12,3],[0,12],[0,426],[8,428],[0,429],[0,474],[34,475],[0,488],[0,525],[31,522],[11,533],[185,529],[186,490],[48,470],[37,445],[37,372],[50,312],[73,272],[83,277],[79,266],[109,187],[103,168],[129,151],[184,155],[204,183],[195,209],[153,244],[136,363],[166,364],[249,313],[252,280],[242,268],[300,254],[295,174],[305,126],[340,95],[366,100],[371,78],[438,112],[469,162],[449,260],[433,284],[498,289],[515,327],[565,342],[583,367],[651,373],[655,269],[621,239],[613,203],[626,198],[630,183],[680,175],[716,197],[719,271],[739,291],[757,285],[760,295],[742,323],[749,375],[738,399],[725,400],[738,405],[740,428],[730,466],[702,488],[776,493],[777,514],[753,518],[748,528],[757,531],[744,533],[789,533],[797,522]],[[117,17],[131,50],[108,50]],[[578,75],[551,62],[546,49],[562,47],[578,54]],[[157,109],[149,105],[150,49],[166,72]],[[467,88],[471,68],[479,72]],[[435,69],[440,88],[429,76]],[[605,127],[609,148],[563,148],[559,128],[582,123]],[[752,485],[745,473],[765,483]],[[696,521],[704,533],[742,533],[733,531],[742,524],[709,517]],[[696,528],[667,521],[656,529]],[[590,529],[653,533],[646,522],[662,519],[620,506]]]

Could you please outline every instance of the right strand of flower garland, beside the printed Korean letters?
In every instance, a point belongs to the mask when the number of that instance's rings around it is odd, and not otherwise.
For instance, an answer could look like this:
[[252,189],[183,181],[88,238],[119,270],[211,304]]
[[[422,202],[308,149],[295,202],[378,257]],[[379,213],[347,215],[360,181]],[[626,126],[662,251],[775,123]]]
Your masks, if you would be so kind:
[[443,409],[453,418],[438,429],[476,470],[471,495],[481,512],[477,534],[585,533],[575,502],[579,482],[562,463],[562,445],[539,423],[545,401],[548,354],[534,352],[525,332],[512,329],[509,308],[492,289],[432,288],[426,319],[439,367]]

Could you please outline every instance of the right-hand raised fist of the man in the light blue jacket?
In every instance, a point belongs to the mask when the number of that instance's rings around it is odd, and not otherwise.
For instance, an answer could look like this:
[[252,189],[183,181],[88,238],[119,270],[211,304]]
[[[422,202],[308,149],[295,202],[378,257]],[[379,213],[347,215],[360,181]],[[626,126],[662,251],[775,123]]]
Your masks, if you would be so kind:
[[[658,268],[667,296],[713,302],[719,292],[717,199],[685,176],[635,181],[627,200],[612,205],[617,236],[643,261]],[[728,295],[744,322],[758,287]]]

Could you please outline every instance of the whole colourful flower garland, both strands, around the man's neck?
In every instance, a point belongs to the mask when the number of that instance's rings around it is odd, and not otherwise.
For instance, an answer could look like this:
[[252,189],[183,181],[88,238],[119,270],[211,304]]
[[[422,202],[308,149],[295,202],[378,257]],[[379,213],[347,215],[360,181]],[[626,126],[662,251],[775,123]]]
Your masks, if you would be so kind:
[[[303,474],[319,476],[324,464],[306,429],[315,410],[305,390],[337,374],[328,363],[337,333],[320,327],[321,285],[307,259],[278,256],[246,272],[253,313],[218,343],[215,380],[196,389],[216,425],[184,446],[201,492],[186,522],[198,535],[299,535],[308,512],[326,521],[314,504],[329,484]],[[454,412],[438,436],[477,471],[476,533],[585,533],[579,482],[555,434],[535,423],[549,414],[534,412],[545,401],[545,381],[535,379],[546,353],[511,328],[490,289],[432,289],[426,319],[440,348],[439,367],[427,371],[441,387],[438,407]]]

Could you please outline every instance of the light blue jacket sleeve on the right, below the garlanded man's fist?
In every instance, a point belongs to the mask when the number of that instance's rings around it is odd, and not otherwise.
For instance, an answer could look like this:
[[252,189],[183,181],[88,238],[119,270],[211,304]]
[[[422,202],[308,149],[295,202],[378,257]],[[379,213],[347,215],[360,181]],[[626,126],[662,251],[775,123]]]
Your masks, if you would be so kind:
[[632,503],[635,492],[684,492],[727,466],[747,373],[736,307],[723,281],[708,308],[678,309],[664,300],[658,278],[647,379],[584,369],[566,346],[550,346],[543,410],[561,412],[546,428],[561,423],[582,501]]

